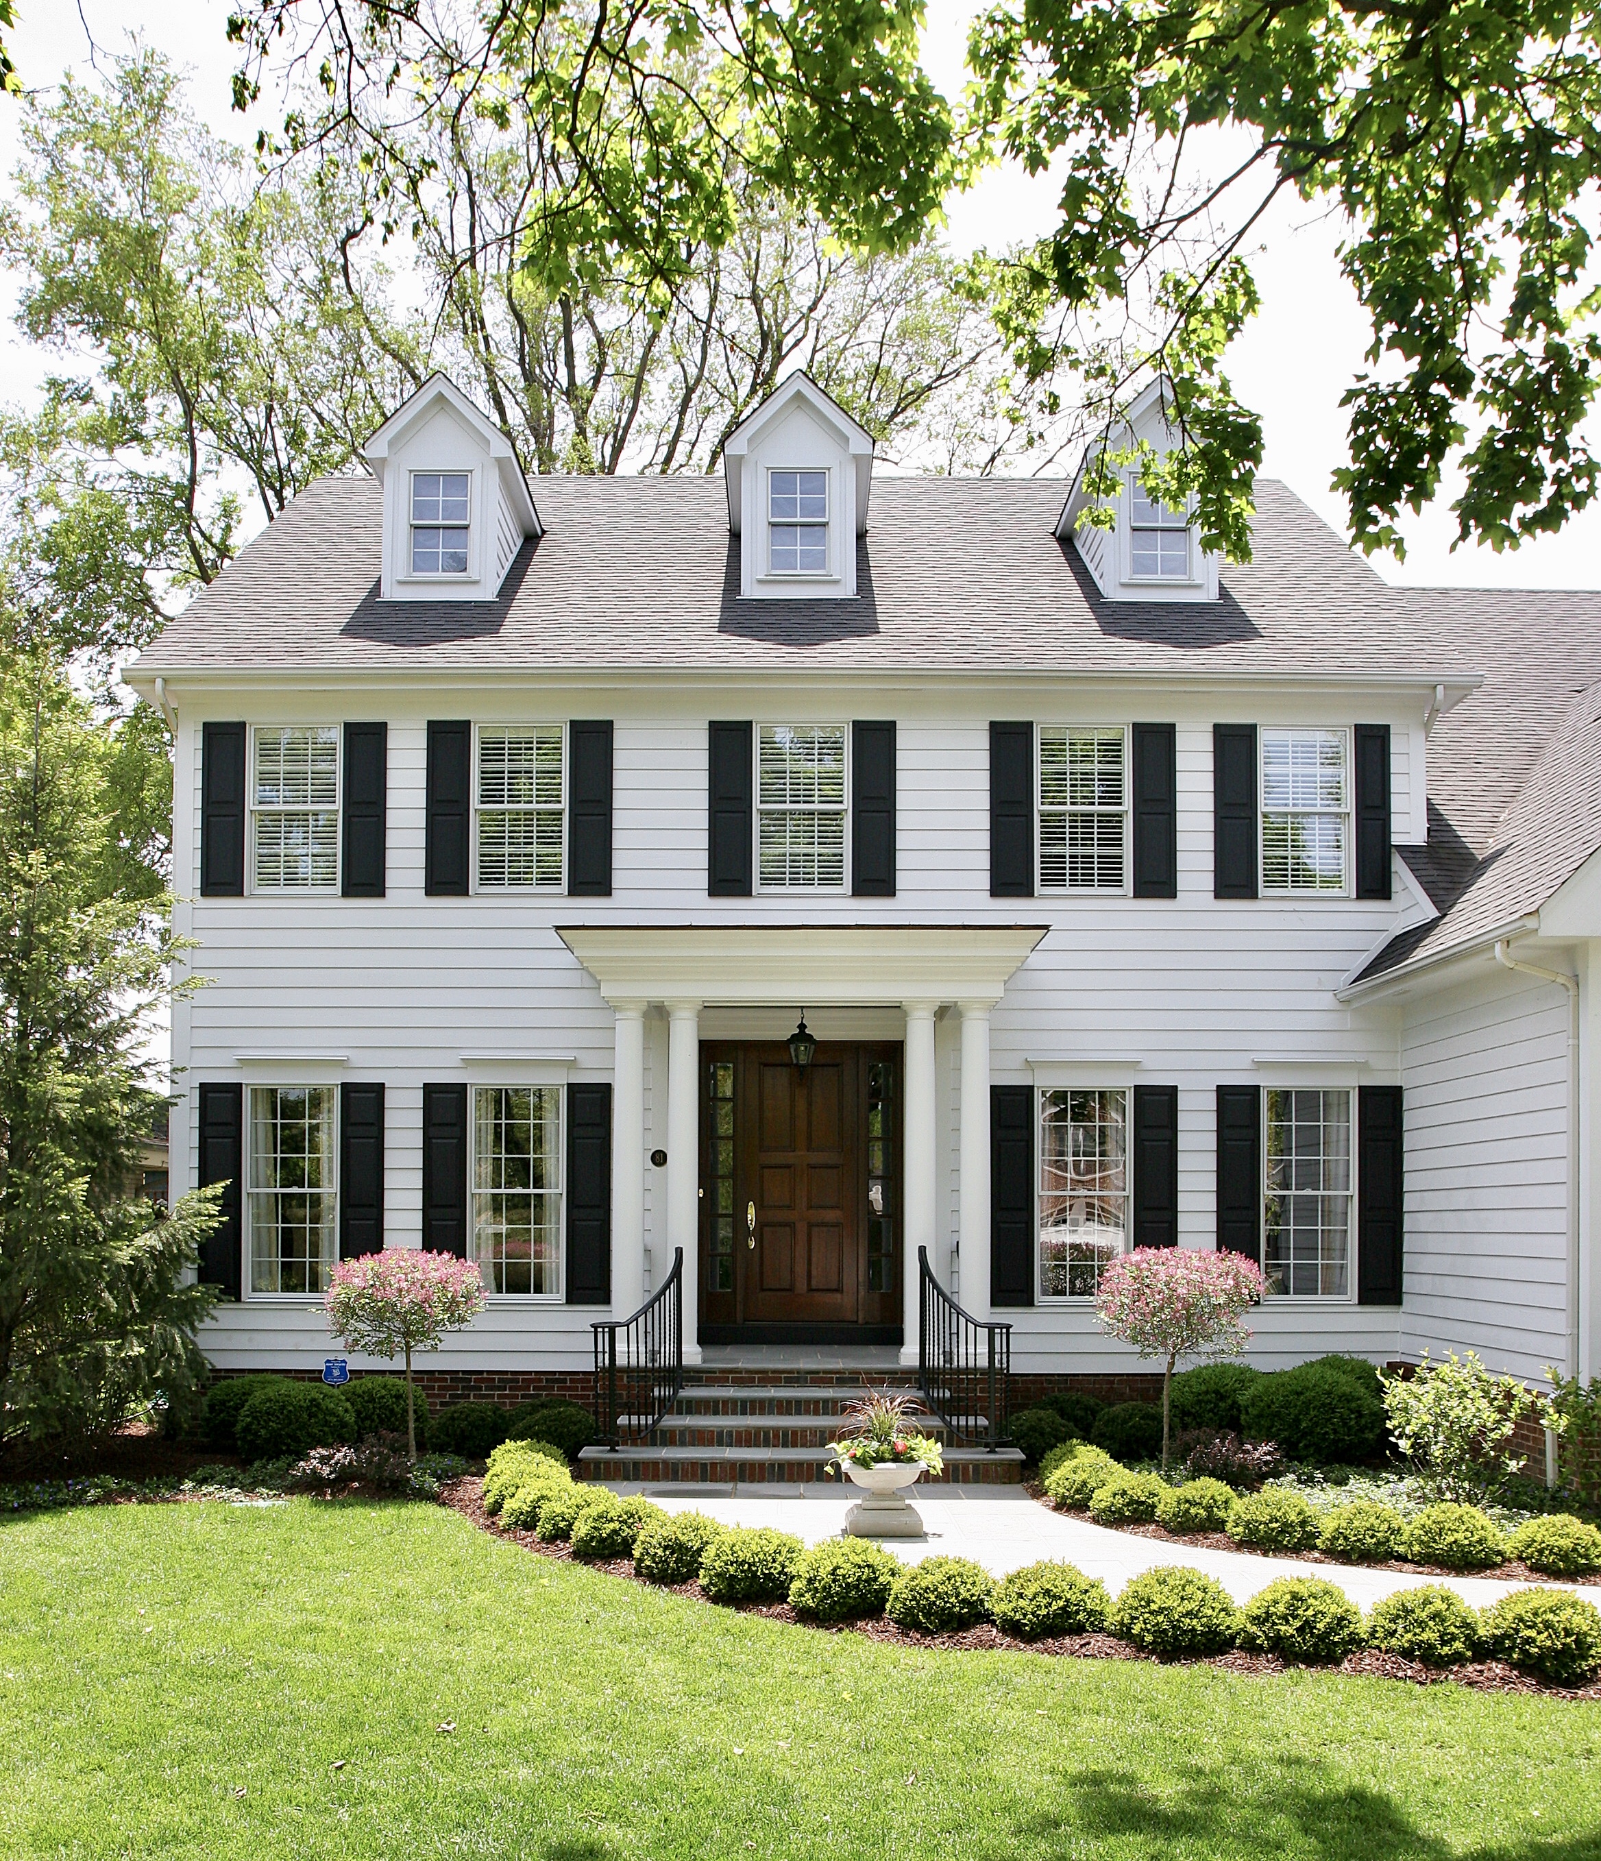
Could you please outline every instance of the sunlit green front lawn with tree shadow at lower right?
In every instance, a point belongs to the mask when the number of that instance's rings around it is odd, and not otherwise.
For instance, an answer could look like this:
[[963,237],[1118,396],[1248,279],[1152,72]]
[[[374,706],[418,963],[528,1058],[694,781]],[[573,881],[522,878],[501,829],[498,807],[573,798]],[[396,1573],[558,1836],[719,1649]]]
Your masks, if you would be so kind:
[[1601,1855],[1590,1705],[882,1647],[428,1506],[0,1526],[0,1749],[7,1857]]

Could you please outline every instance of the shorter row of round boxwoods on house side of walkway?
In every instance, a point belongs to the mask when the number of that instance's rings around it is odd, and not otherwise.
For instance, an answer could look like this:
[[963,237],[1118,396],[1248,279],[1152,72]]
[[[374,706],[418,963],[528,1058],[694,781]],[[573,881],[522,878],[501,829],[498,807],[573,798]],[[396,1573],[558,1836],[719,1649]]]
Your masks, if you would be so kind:
[[1545,1576],[1601,1571],[1601,1530],[1571,1513],[1530,1519],[1515,1532],[1476,1506],[1426,1506],[1411,1519],[1378,1500],[1348,1500],[1318,1511],[1285,1487],[1236,1493],[1221,1479],[1169,1485],[1136,1474],[1083,1444],[1054,1448],[1041,1465],[1046,1494],[1096,1524],[1160,1524],[1167,1532],[1227,1532],[1253,1550],[1322,1550],[1342,1563],[1406,1558],[1448,1571],[1487,1571],[1514,1558]]

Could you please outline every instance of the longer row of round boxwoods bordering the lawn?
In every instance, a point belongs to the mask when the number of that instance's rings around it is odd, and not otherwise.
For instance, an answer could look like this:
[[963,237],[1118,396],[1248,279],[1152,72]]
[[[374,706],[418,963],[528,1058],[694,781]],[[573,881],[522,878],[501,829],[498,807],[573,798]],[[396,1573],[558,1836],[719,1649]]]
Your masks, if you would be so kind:
[[1033,1563],[996,1582],[966,1558],[905,1567],[879,1545],[834,1539],[810,1550],[786,1532],[670,1515],[575,1481],[555,1450],[512,1442],[490,1455],[484,1507],[512,1530],[570,1541],[575,1558],[633,1558],[646,1582],[700,1580],[713,1602],[789,1602],[812,1621],[888,1615],[901,1628],[955,1634],[994,1623],[1022,1641],[1110,1632],[1164,1658],[1232,1647],[1292,1662],[1339,1662],[1361,1647],[1452,1667],[1495,1654],[1556,1686],[1601,1671],[1601,1612],[1582,1597],[1525,1589],[1482,1613],[1456,1591],[1424,1586],[1387,1597],[1365,1621],[1316,1576],[1268,1584],[1244,1610],[1201,1571],[1136,1576],[1113,1600],[1070,1563]]

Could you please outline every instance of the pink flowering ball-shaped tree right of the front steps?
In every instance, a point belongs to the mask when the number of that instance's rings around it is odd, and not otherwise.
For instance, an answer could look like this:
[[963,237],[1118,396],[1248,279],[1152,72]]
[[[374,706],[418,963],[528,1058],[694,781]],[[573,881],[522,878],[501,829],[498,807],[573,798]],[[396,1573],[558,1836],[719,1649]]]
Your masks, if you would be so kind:
[[1141,1357],[1165,1359],[1162,1372],[1162,1468],[1167,1437],[1173,1366],[1180,1357],[1238,1357],[1251,1340],[1240,1323],[1262,1297],[1255,1260],[1219,1249],[1136,1247],[1119,1254],[1100,1275],[1095,1318],[1102,1331],[1132,1344]]

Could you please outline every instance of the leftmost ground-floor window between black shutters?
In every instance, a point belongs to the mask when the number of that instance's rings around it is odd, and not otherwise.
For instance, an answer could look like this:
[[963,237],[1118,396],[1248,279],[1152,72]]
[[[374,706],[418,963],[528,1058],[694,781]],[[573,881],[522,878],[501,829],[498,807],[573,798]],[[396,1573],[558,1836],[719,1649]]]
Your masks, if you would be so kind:
[[253,1085],[246,1206],[249,1290],[328,1290],[339,1262],[331,1085]]

